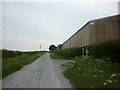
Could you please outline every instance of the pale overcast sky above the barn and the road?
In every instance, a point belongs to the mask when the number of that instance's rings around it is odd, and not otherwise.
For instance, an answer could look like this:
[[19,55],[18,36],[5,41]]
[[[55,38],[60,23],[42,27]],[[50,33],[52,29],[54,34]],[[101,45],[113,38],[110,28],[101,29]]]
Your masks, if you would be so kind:
[[2,2],[2,48],[39,50],[41,44],[42,50],[48,50],[51,44],[66,41],[89,20],[118,14],[118,1]]

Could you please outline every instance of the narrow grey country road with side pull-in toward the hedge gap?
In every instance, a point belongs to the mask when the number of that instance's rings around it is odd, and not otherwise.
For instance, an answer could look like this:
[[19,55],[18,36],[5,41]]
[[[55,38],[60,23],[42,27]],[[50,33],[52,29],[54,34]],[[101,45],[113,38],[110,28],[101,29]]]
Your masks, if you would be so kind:
[[3,88],[71,88],[60,69],[60,64],[67,62],[70,61],[53,60],[46,53],[11,79],[4,79]]

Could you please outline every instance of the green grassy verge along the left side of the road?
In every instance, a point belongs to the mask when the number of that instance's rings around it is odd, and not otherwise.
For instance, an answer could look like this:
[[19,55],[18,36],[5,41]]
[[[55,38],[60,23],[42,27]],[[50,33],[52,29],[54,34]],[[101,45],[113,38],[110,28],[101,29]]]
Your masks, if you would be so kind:
[[32,63],[44,53],[45,52],[20,52],[19,55],[13,56],[8,56],[9,53],[5,53],[2,58],[2,78],[20,70],[24,65]]

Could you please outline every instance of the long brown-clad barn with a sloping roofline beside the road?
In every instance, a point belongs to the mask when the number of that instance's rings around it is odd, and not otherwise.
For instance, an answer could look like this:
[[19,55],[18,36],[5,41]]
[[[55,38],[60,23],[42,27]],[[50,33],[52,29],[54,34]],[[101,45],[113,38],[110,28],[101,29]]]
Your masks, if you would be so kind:
[[91,20],[63,43],[63,49],[120,39],[120,14]]

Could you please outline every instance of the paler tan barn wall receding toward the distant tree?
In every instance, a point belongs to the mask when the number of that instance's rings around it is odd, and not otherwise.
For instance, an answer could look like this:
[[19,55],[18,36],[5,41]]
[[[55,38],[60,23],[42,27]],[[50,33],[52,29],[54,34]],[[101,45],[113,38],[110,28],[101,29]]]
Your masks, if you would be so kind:
[[72,47],[82,47],[89,44],[89,23],[83,26],[81,30],[75,33],[65,43],[63,43],[63,49]]

